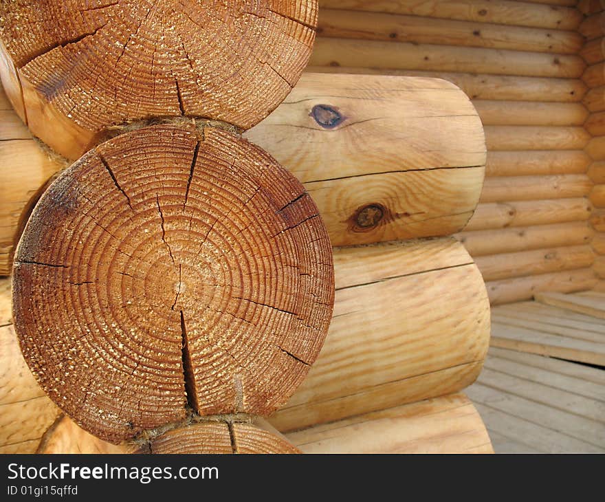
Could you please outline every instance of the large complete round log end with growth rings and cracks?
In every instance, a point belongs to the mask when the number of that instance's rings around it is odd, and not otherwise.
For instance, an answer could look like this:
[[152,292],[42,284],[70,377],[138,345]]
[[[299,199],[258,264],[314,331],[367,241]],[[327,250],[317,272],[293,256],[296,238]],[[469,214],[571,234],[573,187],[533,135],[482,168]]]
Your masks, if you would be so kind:
[[89,151],[40,199],[15,254],[15,331],[43,389],[102,439],[186,408],[266,414],[322,347],[331,263],[314,202],[269,155],[158,124]]

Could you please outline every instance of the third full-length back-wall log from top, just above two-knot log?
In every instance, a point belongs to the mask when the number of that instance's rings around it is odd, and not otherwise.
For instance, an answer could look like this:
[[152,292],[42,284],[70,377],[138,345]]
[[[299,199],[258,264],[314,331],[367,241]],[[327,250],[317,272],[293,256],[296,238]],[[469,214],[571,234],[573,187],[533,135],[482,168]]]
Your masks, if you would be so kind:
[[586,67],[569,54],[322,37],[309,64],[559,78],[580,78]]

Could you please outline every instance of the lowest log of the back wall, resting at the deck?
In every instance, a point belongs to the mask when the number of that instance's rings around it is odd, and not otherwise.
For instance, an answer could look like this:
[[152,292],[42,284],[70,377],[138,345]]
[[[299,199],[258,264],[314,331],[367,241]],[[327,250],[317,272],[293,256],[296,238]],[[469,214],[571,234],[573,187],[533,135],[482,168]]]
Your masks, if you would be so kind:
[[540,291],[571,293],[590,290],[597,283],[597,276],[591,268],[552,272],[529,277],[516,277],[485,284],[492,305],[531,300]]

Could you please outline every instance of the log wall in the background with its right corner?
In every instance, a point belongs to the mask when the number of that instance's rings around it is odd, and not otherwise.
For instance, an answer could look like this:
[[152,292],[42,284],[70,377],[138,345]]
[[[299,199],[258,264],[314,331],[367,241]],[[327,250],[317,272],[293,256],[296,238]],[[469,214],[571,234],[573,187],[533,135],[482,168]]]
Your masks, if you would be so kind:
[[487,176],[481,204],[456,237],[492,303],[587,290],[605,276],[605,260],[595,259],[605,253],[597,233],[605,231],[599,0],[320,0],[320,7],[310,71],[445,78],[478,110]]

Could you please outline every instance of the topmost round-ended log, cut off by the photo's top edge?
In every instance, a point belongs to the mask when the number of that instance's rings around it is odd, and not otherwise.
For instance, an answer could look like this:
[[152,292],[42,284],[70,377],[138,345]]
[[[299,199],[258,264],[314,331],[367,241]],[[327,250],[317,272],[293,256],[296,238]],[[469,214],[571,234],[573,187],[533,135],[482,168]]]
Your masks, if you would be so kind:
[[10,0],[0,76],[34,135],[75,160],[108,128],[146,118],[252,127],[296,84],[316,22],[316,0]]

